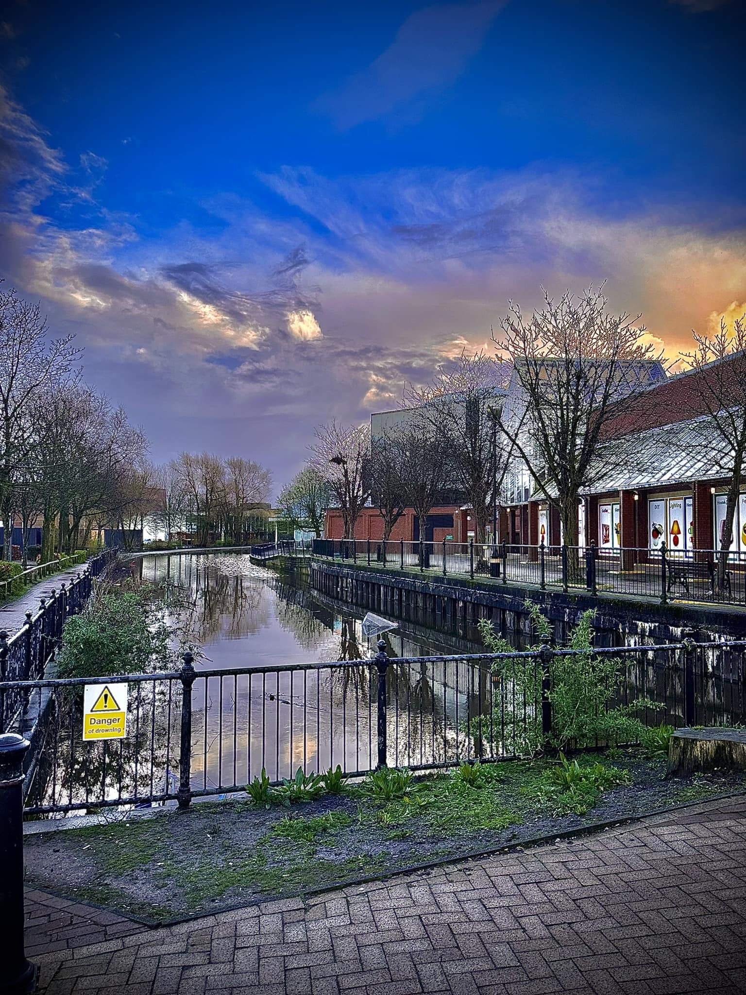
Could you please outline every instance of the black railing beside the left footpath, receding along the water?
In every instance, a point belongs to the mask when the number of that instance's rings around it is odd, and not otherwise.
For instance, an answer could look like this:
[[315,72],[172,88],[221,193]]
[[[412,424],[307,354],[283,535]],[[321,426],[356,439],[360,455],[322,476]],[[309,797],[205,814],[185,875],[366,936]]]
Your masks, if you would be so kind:
[[[26,612],[26,621],[17,633],[0,630],[0,682],[39,680],[62,640],[65,622],[77,615],[91,597],[92,581],[115,556],[105,549],[93,556],[76,577],[52,588],[42,598],[39,609]],[[26,699],[19,691],[0,690],[0,732],[6,732],[24,708]]]

